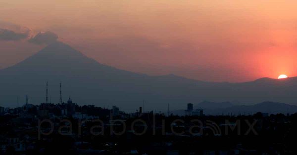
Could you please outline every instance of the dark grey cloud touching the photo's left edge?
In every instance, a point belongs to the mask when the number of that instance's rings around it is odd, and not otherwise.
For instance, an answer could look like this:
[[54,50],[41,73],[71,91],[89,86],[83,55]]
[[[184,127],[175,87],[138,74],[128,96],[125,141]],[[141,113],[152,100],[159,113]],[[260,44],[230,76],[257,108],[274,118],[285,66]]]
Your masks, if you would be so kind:
[[5,41],[21,40],[21,39],[26,39],[28,37],[28,35],[29,35],[28,32],[16,33],[11,30],[0,28],[0,40],[5,40]]

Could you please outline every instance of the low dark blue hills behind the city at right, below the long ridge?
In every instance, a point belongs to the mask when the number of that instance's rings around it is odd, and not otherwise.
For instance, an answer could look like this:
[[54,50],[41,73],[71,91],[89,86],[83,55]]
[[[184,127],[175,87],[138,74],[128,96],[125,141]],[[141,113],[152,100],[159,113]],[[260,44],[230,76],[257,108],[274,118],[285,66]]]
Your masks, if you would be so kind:
[[[297,106],[284,104],[284,103],[276,103],[276,102],[262,102],[255,105],[242,105],[236,106],[232,105],[229,102],[226,102],[227,105],[223,107],[222,103],[212,103],[212,102],[202,102],[202,105],[205,103],[210,103],[211,107],[204,107],[205,115],[248,115],[255,114],[257,112],[268,113],[268,114],[295,114],[297,113]],[[217,105],[217,107],[215,107]],[[232,105],[232,106],[231,106]],[[195,107],[198,108],[198,107]],[[177,110],[172,112],[174,115],[185,115],[184,110]]]

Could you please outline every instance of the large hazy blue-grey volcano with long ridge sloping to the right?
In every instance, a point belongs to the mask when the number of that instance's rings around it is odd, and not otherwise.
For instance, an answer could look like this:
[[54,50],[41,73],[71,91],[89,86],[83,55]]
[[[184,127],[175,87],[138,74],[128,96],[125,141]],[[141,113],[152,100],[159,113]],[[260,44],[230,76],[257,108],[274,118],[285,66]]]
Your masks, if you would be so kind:
[[[79,104],[94,104],[122,110],[165,110],[186,107],[187,103],[204,100],[238,101],[255,104],[263,101],[296,103],[297,78],[261,78],[243,83],[205,82],[175,75],[148,76],[106,66],[85,56],[62,42],[55,42],[24,61],[0,70],[0,106],[15,107],[29,95],[30,103],[39,104],[49,98],[59,101],[62,82],[63,101],[71,96]],[[50,100],[49,99],[49,100]]]

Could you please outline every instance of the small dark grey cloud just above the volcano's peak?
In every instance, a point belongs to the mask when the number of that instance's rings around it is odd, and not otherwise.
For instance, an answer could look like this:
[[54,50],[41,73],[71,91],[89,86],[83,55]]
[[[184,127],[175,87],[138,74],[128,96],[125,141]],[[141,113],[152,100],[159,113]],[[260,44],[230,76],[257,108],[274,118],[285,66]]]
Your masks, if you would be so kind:
[[35,44],[50,44],[55,42],[58,39],[58,36],[50,31],[45,33],[38,33],[36,36],[32,37],[28,41]]

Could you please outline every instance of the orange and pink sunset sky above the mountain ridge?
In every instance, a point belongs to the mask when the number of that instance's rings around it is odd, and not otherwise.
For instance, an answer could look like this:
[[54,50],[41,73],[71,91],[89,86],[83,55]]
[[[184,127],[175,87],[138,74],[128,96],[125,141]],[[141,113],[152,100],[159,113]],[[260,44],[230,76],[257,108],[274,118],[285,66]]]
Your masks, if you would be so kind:
[[0,0],[0,69],[52,40],[152,76],[297,76],[295,0]]

